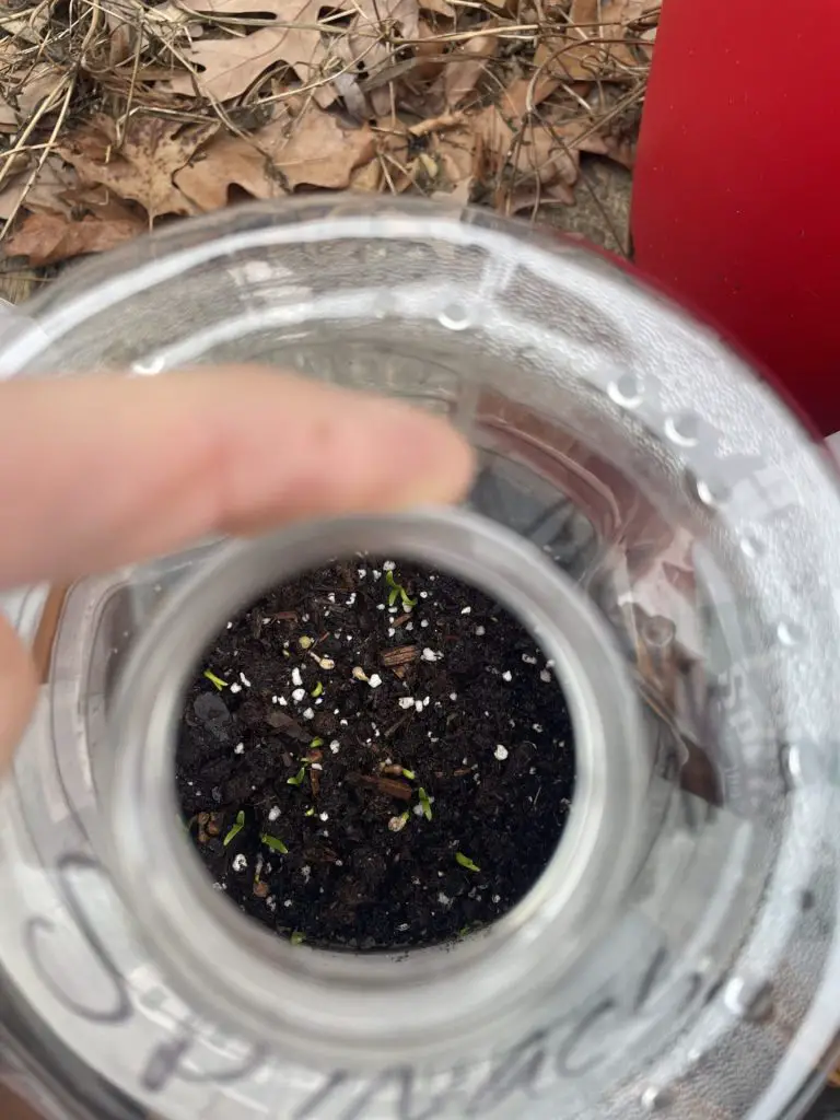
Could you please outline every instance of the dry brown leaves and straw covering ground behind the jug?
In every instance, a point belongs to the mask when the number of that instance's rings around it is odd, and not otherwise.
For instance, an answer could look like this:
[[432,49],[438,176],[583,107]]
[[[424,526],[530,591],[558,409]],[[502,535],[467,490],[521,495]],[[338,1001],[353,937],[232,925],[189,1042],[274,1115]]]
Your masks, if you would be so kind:
[[307,190],[536,216],[632,166],[654,0],[19,0],[0,218],[34,265]]

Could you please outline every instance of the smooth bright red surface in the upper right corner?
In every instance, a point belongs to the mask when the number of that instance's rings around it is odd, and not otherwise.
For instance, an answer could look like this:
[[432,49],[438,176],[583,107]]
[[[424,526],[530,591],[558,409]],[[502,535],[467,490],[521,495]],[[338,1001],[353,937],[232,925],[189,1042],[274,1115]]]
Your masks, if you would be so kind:
[[840,429],[840,2],[664,0],[634,179],[640,270]]

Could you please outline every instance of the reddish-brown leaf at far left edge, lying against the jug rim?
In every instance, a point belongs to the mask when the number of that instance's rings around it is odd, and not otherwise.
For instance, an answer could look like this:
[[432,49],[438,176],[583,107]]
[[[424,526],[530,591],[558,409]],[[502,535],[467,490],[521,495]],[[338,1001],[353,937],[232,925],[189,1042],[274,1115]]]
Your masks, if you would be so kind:
[[129,212],[108,218],[28,214],[3,246],[7,256],[28,256],[32,265],[53,264],[84,253],[100,253],[143,233],[146,224]]

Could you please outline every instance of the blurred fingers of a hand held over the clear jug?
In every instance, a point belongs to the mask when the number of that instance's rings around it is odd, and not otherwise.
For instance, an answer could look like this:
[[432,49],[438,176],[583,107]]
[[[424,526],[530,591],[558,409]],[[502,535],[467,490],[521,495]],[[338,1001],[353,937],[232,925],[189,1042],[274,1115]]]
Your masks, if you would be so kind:
[[[0,589],[68,581],[212,532],[458,498],[473,457],[396,402],[260,370],[0,385]],[[35,701],[0,615],[0,768]]]

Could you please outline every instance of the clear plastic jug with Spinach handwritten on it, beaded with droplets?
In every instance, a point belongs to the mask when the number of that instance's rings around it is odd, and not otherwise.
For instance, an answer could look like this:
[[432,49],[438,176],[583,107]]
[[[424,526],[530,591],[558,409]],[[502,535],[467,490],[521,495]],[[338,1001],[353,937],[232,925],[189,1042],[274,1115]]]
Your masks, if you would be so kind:
[[[580,246],[408,202],[180,224],[31,315],[7,375],[269,363],[445,413],[482,469],[460,511],[54,591],[0,792],[7,1076],[78,1120],[801,1114],[840,1029],[840,500],[748,366]],[[290,956],[178,836],[178,685],[232,605],[383,544],[483,582],[557,651],[579,793],[486,934]]]

